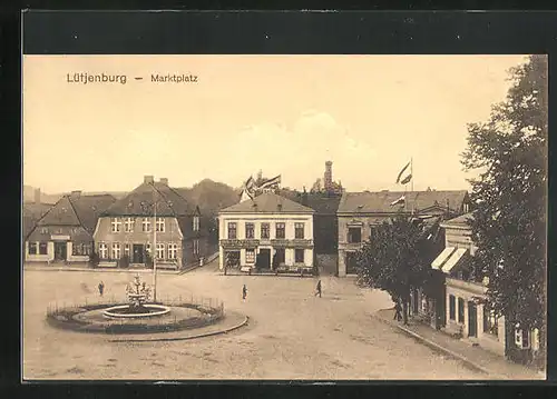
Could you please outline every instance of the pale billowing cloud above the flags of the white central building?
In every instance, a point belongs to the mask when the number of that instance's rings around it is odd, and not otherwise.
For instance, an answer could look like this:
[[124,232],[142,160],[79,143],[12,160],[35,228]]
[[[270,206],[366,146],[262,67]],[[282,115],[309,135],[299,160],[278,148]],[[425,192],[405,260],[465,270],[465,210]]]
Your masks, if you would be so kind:
[[229,157],[246,176],[262,169],[265,176],[281,173],[283,186],[299,188],[322,177],[326,160],[339,167],[341,176],[375,157],[368,143],[350,136],[348,127],[315,110],[303,112],[291,126],[245,127],[229,146]]

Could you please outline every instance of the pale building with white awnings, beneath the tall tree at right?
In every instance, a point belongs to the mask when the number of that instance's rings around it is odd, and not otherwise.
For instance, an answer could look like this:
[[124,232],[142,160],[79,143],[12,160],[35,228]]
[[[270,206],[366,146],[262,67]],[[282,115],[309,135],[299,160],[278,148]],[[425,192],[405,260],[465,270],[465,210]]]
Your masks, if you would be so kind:
[[441,225],[446,230],[446,248],[431,263],[446,276],[444,331],[498,355],[521,360],[514,356],[539,350],[537,331],[516,331],[506,326],[502,315],[489,309],[487,280],[473,272],[470,262],[477,250],[469,226],[472,218],[472,213],[466,213]]

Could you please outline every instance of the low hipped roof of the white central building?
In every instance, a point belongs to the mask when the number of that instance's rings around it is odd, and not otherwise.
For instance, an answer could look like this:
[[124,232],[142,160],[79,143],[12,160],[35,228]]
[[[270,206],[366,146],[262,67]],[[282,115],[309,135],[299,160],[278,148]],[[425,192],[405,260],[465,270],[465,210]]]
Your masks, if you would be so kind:
[[287,198],[273,192],[265,192],[253,200],[242,201],[221,210],[219,213],[314,213],[311,208],[304,207]]

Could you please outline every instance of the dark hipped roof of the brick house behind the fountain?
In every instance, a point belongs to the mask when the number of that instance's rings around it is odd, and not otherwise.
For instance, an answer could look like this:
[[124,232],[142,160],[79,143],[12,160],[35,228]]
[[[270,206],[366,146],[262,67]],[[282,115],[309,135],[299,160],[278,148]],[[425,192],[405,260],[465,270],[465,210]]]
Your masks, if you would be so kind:
[[123,199],[114,202],[101,216],[147,216],[153,215],[156,199],[157,216],[180,217],[193,215],[196,207],[176,189],[162,183],[141,183]]

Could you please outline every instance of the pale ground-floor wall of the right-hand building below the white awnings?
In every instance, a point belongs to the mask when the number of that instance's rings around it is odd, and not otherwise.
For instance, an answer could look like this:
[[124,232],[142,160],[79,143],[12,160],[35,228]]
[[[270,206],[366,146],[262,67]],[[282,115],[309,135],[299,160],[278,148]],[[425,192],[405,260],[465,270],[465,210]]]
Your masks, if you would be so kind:
[[[483,305],[478,303],[477,308],[477,320],[478,326],[478,337],[468,337],[469,332],[469,308],[468,301],[473,301],[475,298],[485,298],[485,292],[487,288],[475,282],[461,281],[452,278],[447,278],[447,302],[446,302],[446,318],[447,318],[447,332],[456,332],[458,326],[462,326],[462,336],[465,339],[472,342],[479,343],[480,347],[486,348],[497,355],[505,356],[505,318],[500,317],[498,320],[498,336],[495,337],[488,332],[483,332]],[[455,296],[455,319],[450,319],[450,305],[449,296]],[[460,325],[458,322],[458,298],[465,300],[465,322]]]

